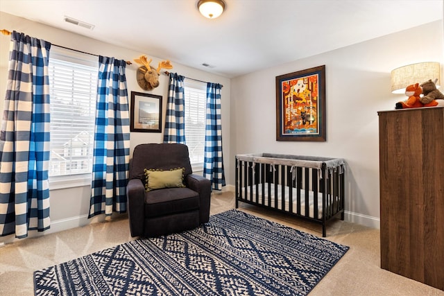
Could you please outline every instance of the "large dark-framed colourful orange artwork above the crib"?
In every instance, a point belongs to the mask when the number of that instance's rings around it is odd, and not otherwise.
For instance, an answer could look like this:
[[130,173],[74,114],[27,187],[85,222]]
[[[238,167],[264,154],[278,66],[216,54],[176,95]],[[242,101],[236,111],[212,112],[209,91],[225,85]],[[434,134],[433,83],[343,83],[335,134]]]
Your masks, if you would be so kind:
[[325,65],[276,76],[276,141],[326,141]]

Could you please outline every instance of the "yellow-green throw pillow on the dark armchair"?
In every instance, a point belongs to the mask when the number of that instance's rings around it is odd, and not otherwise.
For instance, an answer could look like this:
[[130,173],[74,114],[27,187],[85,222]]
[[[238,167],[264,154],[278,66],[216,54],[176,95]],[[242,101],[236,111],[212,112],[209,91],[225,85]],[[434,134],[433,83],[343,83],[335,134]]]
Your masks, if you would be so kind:
[[171,168],[169,171],[144,169],[145,191],[162,188],[185,187],[183,173],[185,168]]

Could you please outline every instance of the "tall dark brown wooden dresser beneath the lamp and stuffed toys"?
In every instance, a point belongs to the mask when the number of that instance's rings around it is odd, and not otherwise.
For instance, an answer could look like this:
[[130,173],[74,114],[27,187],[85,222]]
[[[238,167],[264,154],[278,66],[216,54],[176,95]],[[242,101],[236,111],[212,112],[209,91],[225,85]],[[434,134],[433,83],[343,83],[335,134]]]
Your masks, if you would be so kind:
[[378,116],[381,268],[444,290],[444,107]]

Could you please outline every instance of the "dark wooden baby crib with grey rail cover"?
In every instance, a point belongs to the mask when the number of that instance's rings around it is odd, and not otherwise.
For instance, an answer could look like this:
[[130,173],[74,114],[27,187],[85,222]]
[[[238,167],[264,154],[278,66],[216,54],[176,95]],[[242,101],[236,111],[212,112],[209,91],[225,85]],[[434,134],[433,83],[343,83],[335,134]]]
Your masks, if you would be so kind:
[[344,220],[344,160],[280,155],[236,155],[236,208],[240,202],[282,211],[322,225]]

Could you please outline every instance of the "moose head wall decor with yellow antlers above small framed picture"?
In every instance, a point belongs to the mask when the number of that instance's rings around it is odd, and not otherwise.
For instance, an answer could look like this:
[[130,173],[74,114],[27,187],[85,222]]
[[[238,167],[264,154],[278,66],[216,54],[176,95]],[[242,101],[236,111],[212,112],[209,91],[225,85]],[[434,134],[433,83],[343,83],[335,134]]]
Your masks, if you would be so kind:
[[150,66],[152,60],[153,59],[148,60],[146,55],[141,55],[138,59],[134,60],[137,64],[143,65],[137,69],[137,83],[139,87],[142,87],[144,90],[151,90],[159,86],[160,69],[173,69],[173,65],[171,65],[169,60],[159,62],[159,66],[155,69]]

